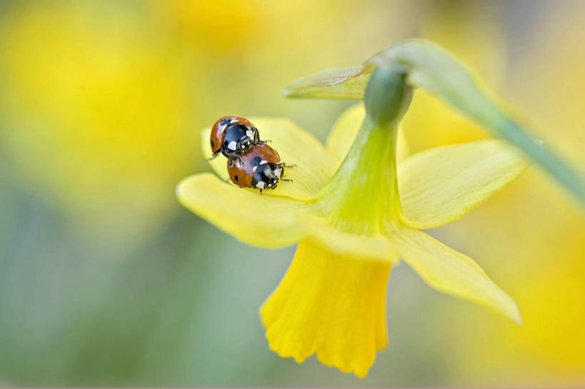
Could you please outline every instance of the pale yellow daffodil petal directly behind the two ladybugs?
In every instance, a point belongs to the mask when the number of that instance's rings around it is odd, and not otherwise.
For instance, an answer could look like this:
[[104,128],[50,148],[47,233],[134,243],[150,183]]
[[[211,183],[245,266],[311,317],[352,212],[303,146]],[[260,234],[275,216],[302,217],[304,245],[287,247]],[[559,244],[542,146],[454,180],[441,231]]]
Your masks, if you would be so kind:
[[[296,165],[285,168],[286,178],[291,178],[293,182],[281,182],[274,191],[269,191],[269,193],[274,196],[304,200],[314,198],[339,165],[334,154],[330,153],[314,136],[286,118],[249,118],[249,120],[258,128],[262,140],[271,141],[269,146],[279,153],[282,162],[287,165]],[[201,131],[201,145],[206,158],[211,157],[210,129],[211,126]],[[219,155],[211,160],[211,168],[221,178],[229,178],[224,156]]]

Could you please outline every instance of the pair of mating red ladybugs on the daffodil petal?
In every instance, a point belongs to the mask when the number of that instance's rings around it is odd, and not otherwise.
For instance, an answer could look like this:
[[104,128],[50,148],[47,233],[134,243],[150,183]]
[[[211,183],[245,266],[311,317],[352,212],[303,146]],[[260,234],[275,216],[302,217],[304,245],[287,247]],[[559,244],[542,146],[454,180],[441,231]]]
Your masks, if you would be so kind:
[[224,116],[211,128],[211,152],[228,158],[231,182],[242,188],[274,189],[284,178],[279,153],[260,140],[258,128],[246,118]]

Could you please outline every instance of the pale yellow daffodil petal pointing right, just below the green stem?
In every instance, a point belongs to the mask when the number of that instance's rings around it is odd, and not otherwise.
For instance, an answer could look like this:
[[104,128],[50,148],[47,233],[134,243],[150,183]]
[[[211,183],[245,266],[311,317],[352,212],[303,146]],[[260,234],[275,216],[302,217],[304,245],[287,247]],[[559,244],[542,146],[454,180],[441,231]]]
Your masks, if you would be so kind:
[[471,211],[529,165],[506,141],[477,141],[433,148],[398,166],[404,222],[434,228]]

